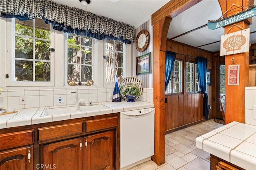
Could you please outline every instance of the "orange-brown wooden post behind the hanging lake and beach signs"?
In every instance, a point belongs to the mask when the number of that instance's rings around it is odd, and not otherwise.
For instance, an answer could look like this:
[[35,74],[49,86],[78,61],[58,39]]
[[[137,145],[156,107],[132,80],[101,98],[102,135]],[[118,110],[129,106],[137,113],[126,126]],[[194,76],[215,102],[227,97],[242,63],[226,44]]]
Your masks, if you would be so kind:
[[[244,0],[219,0],[222,14],[228,10],[233,4],[240,5],[240,6],[246,6],[249,5],[249,1]],[[232,10],[236,8],[235,10]],[[236,6],[233,6],[230,8],[230,12],[227,12],[227,16],[231,16],[236,14],[237,12],[241,12],[241,8],[237,8]],[[245,8],[244,8],[245,10]],[[224,16],[226,17],[226,16]],[[247,29],[249,28],[248,20],[243,20],[240,22],[237,22],[236,25]],[[232,33],[239,31],[239,27],[232,27],[232,25],[228,25],[224,27],[225,33]],[[231,29],[230,29],[231,28]],[[240,65],[240,75],[239,75],[239,86],[231,86],[228,85],[228,65],[230,65],[231,59],[235,58],[235,62]],[[244,93],[245,93],[245,87],[249,86],[249,52],[246,53],[238,53],[233,55],[226,55],[225,56],[225,69],[226,69],[226,119],[225,123],[230,123],[232,121],[238,121],[241,123],[244,123],[244,109],[245,109],[245,99],[244,99]]]

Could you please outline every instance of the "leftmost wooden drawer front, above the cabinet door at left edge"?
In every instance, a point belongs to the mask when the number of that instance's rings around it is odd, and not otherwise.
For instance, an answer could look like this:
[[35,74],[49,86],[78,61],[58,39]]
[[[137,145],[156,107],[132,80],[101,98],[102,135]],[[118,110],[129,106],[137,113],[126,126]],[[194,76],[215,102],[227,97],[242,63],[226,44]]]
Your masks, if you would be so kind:
[[33,132],[28,130],[0,135],[1,150],[33,144]]

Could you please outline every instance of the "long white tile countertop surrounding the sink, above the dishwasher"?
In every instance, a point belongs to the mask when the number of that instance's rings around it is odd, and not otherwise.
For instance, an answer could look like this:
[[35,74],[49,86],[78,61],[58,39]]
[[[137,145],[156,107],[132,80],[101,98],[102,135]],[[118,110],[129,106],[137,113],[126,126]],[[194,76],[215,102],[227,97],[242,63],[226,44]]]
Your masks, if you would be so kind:
[[104,106],[109,107],[109,109],[98,109],[94,111],[83,111],[78,113],[67,113],[67,114],[46,115],[46,116],[43,115],[45,109],[53,108],[53,107],[15,109],[16,111],[18,111],[18,113],[0,115],[0,129],[154,107],[153,103],[142,102],[142,101],[135,101],[135,102],[122,101],[117,103],[102,102],[102,103],[93,103],[93,104],[94,105],[102,104]]

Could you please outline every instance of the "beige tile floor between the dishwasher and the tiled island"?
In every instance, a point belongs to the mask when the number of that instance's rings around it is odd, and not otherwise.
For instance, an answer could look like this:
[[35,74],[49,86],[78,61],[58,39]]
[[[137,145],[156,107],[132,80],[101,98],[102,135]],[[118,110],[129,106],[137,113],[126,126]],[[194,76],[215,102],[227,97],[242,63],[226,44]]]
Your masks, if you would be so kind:
[[165,135],[165,163],[152,160],[129,170],[210,170],[210,154],[196,147],[196,137],[222,127],[214,119]]

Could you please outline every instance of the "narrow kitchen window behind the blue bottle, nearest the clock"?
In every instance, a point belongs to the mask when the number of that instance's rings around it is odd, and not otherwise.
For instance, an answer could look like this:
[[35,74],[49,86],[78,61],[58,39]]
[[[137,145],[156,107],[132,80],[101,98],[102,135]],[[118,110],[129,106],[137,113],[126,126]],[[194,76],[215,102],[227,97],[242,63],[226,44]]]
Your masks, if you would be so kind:
[[104,51],[104,85],[113,85],[116,74],[118,75],[118,82],[121,82],[124,76],[124,43],[114,40],[104,40]]

